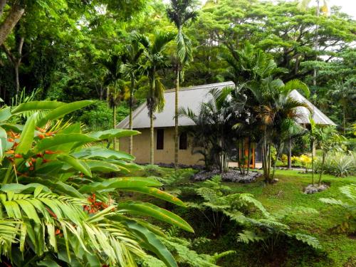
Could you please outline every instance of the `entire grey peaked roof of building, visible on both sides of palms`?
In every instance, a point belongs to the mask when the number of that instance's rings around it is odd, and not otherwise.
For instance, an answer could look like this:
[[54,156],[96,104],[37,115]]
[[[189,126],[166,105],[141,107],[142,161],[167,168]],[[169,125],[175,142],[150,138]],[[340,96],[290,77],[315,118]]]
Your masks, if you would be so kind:
[[[208,99],[208,93],[213,88],[224,88],[227,86],[235,86],[233,82],[225,83],[211,83],[208,85],[198,85],[189,88],[181,88],[179,90],[179,107],[190,108],[194,112],[199,112],[199,108],[202,102],[206,102]],[[322,125],[335,125],[323,112],[318,110],[312,103],[306,100],[303,95],[300,95],[297,90],[290,92],[290,96],[296,100],[305,102],[308,104],[311,110],[313,110],[313,120],[316,124]],[[155,112],[155,127],[174,127],[174,89],[167,90],[164,93],[164,110],[160,113]],[[307,108],[298,108],[299,123],[308,124],[310,111]],[[136,110],[132,112],[132,124],[134,129],[149,128],[150,117],[148,116],[148,110],[146,103],[143,103]],[[187,117],[179,117],[179,125],[187,126],[194,123]],[[127,129],[129,127],[129,117],[125,117],[118,125],[117,128]]]

